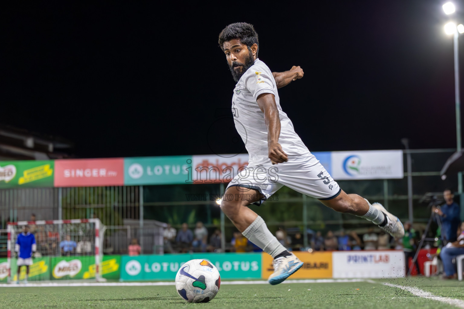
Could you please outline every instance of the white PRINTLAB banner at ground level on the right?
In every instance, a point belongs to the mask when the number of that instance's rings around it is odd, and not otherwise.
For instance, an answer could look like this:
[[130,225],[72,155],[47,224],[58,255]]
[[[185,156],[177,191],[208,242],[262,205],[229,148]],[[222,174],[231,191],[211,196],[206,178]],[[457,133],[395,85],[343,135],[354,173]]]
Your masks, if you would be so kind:
[[403,251],[332,252],[334,278],[397,278],[405,275]]

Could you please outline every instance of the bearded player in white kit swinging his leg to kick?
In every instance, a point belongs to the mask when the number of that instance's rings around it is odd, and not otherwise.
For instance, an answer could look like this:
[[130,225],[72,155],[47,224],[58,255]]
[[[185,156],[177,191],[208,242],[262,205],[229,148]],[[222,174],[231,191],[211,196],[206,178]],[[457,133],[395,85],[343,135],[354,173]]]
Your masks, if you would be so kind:
[[[279,284],[303,263],[271,234],[248,205],[258,205],[282,186],[319,199],[335,211],[366,218],[395,238],[404,235],[400,220],[379,203],[346,194],[304,145],[280,107],[277,88],[303,77],[301,68],[272,73],[258,59],[258,34],[253,25],[234,23],[219,34],[219,47],[237,83],[232,96],[235,127],[249,154],[248,167],[232,179],[221,209],[252,243],[273,258],[270,284]],[[277,55],[277,50],[272,50]],[[277,164],[277,165],[276,165]]]

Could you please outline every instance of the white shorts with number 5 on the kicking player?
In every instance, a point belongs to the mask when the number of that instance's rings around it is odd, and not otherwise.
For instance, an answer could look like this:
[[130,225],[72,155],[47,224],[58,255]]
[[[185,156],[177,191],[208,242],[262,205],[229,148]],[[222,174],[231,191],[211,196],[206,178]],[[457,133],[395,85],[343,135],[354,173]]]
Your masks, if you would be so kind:
[[[312,153],[288,158],[287,162],[274,165],[271,161],[257,166],[249,165],[232,179],[227,188],[238,186],[258,190],[264,198],[253,203],[257,205],[269,199],[283,186],[319,200],[331,200],[342,192],[338,183]],[[231,198],[236,197],[223,197]]]

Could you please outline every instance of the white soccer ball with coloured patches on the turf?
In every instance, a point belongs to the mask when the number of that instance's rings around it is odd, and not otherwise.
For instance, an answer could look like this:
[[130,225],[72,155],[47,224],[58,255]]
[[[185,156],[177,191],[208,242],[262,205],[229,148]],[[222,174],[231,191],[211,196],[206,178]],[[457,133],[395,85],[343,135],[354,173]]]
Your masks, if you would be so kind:
[[221,285],[219,271],[206,259],[193,259],[180,266],[175,276],[175,288],[189,303],[207,303],[218,294]]

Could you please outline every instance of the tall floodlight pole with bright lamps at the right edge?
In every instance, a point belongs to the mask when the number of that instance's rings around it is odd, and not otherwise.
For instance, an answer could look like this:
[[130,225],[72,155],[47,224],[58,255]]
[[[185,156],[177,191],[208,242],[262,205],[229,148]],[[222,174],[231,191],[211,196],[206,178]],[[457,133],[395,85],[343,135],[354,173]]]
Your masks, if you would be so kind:
[[[447,2],[443,5],[445,14],[456,12],[456,7],[452,2]],[[454,24],[449,22],[445,25],[445,33],[453,34],[454,45],[454,99],[456,109],[456,151],[461,151],[461,99],[459,94],[459,33],[464,33],[464,25]],[[458,173],[458,193],[463,193],[463,174]]]

